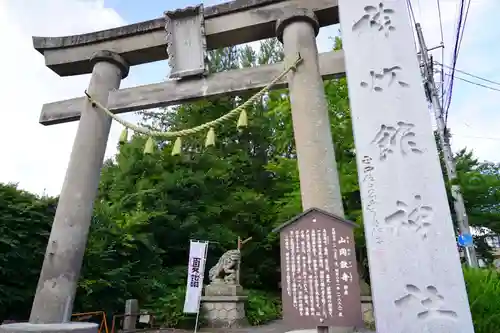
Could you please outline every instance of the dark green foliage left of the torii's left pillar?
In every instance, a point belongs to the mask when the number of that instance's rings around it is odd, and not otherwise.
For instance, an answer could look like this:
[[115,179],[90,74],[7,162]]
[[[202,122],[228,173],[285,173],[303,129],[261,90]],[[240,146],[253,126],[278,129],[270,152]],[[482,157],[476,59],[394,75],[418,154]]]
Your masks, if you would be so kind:
[[0,184],[0,321],[29,315],[56,202]]

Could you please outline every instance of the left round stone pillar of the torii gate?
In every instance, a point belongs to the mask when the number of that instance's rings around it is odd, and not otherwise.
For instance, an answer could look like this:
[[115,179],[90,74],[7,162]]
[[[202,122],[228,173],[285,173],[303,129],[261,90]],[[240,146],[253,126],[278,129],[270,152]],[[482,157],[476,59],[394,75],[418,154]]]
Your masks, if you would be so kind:
[[[120,86],[129,67],[120,55],[108,51],[97,52],[91,61],[94,69],[88,93],[106,106],[109,92]],[[111,118],[85,101],[31,309],[31,323],[70,319],[110,127]]]

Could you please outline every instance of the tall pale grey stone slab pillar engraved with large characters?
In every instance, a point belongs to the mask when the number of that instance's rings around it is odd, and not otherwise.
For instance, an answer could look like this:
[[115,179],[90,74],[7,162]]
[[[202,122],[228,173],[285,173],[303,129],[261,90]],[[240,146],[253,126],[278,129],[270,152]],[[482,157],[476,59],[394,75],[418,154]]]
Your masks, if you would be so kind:
[[377,332],[473,333],[406,3],[339,8]]

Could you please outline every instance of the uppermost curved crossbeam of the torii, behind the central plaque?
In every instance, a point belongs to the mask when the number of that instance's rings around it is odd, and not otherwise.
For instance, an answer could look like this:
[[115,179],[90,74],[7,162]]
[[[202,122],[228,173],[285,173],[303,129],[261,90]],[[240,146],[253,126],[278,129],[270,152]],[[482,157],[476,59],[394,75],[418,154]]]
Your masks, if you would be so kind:
[[[338,0],[234,0],[204,9],[207,48],[217,49],[275,36],[275,22],[295,8],[313,10],[320,26],[339,23]],[[92,54],[120,54],[129,65],[168,58],[163,17],[114,29],[65,37],[33,37],[45,64],[60,76],[88,74]]]

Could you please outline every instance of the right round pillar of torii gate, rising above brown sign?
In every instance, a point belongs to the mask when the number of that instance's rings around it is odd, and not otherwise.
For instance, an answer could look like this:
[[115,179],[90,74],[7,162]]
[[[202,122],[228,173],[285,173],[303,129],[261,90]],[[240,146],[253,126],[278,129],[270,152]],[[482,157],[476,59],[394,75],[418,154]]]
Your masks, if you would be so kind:
[[298,53],[304,59],[288,76],[302,208],[316,207],[343,217],[330,119],[318,65],[318,31],[314,13],[307,10],[298,10],[276,24],[285,60],[294,61]]

